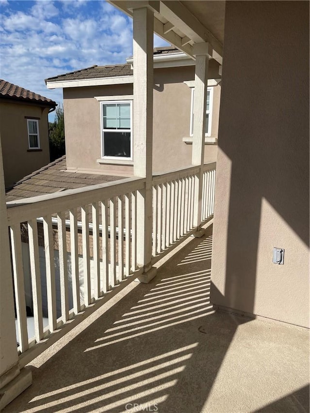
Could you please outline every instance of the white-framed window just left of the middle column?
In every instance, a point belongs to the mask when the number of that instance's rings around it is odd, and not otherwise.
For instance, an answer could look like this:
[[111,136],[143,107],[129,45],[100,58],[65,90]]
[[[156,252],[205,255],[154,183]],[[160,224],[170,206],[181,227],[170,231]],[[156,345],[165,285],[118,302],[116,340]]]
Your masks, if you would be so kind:
[[101,102],[101,156],[132,159],[132,101]]

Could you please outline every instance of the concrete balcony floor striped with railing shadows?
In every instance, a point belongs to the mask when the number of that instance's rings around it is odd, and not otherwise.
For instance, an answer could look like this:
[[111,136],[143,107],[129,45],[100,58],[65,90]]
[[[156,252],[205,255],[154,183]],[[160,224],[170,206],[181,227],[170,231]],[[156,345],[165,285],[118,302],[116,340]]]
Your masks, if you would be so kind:
[[309,336],[212,311],[212,229],[31,362],[4,412],[309,412]]

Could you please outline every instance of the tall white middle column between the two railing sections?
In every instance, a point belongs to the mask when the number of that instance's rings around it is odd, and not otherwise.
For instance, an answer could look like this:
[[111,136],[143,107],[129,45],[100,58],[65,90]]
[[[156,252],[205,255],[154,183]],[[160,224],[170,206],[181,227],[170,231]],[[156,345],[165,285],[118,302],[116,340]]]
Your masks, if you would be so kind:
[[[152,259],[152,150],[153,150],[153,36],[154,10],[159,1],[132,2],[133,8],[133,159],[134,175],[146,178],[137,192],[137,264],[141,282],[149,282],[156,269]],[[152,7],[150,6],[152,3]]]

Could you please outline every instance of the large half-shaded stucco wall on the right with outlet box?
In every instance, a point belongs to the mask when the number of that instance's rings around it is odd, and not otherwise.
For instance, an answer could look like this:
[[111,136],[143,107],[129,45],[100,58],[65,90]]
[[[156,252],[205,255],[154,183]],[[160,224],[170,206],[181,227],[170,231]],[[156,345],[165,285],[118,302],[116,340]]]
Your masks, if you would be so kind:
[[228,1],[224,43],[211,300],[309,326],[309,2]]

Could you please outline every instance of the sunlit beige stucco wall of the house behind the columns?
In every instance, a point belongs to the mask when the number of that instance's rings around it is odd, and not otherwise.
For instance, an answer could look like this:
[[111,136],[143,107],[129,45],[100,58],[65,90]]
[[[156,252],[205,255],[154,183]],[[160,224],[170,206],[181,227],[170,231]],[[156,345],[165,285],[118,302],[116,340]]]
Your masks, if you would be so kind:
[[[161,172],[191,165],[189,137],[191,89],[194,66],[155,69],[153,171]],[[218,77],[218,67],[210,63],[210,76]],[[130,176],[133,166],[99,164],[101,158],[100,102],[94,96],[132,95],[133,85],[63,89],[67,168]],[[214,88],[212,135],[217,138],[220,86]],[[205,162],[214,162],[217,144],[205,145]]]

